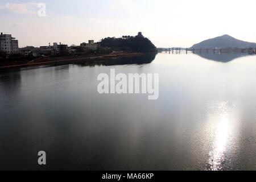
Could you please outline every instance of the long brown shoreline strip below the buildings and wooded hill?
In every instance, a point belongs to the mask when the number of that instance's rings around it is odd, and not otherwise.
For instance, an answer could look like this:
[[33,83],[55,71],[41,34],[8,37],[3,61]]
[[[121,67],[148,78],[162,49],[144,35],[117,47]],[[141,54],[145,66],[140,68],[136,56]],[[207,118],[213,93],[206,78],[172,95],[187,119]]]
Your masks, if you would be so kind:
[[[148,52],[150,53],[150,52]],[[0,69],[9,69],[9,68],[23,68],[23,67],[36,67],[36,66],[40,66],[40,65],[64,65],[64,64],[72,64],[75,63],[76,61],[98,61],[98,60],[111,60],[111,59],[117,59],[120,57],[134,57],[134,56],[142,56],[142,55],[146,55],[148,53],[143,53],[143,52],[113,52],[110,54],[106,54],[106,55],[99,55],[99,56],[90,56],[88,57],[88,55],[84,55],[81,57],[77,58],[72,58],[72,59],[65,59],[68,57],[74,57],[74,56],[63,56],[63,57],[45,57],[46,59],[48,59],[48,61],[41,61],[39,60],[39,62],[34,63],[34,60],[32,61],[28,61],[28,63],[25,64],[13,64],[13,65],[0,65]],[[41,59],[44,57],[40,57]],[[39,59],[40,59],[39,58]],[[56,60],[55,60],[56,59]]]

